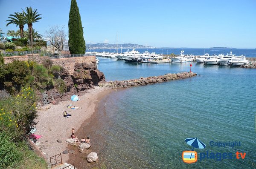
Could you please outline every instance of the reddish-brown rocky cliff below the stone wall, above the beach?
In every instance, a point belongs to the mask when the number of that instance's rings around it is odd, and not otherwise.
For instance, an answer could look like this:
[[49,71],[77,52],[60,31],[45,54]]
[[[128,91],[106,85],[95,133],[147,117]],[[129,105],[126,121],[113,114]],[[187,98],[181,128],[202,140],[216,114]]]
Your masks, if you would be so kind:
[[80,95],[87,89],[94,89],[94,86],[98,86],[99,82],[105,81],[105,75],[97,69],[95,62],[75,63],[72,74],[68,69],[61,68],[58,77],[65,82],[67,91],[61,94],[54,88],[43,93],[37,92],[42,105],[67,100],[70,95]]

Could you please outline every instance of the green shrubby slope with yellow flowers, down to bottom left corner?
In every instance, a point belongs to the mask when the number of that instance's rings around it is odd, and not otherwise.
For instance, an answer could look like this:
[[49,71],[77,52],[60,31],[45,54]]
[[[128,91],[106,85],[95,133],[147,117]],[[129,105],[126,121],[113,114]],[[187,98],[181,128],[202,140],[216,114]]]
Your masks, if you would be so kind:
[[47,169],[47,163],[24,141],[37,117],[34,90],[23,87],[16,96],[0,100],[0,168]]

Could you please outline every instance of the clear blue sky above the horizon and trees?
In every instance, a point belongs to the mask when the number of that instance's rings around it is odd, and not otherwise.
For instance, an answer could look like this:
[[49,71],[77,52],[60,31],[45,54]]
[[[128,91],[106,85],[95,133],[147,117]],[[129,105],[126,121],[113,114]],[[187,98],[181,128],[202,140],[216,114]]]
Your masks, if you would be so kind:
[[[27,6],[43,19],[40,34],[65,26],[71,0],[0,0],[0,29]],[[86,43],[137,43],[154,47],[256,48],[256,0],[77,0]],[[25,30],[28,27],[25,26]]]

